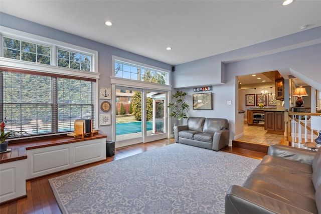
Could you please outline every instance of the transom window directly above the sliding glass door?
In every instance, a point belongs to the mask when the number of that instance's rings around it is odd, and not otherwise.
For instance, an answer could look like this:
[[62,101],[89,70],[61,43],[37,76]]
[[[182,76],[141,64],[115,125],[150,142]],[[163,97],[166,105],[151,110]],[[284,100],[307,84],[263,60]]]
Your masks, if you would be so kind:
[[115,60],[115,77],[142,82],[169,84],[168,72]]

